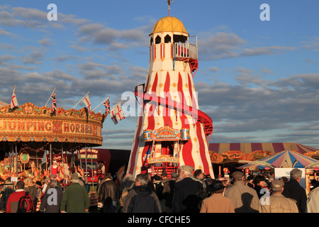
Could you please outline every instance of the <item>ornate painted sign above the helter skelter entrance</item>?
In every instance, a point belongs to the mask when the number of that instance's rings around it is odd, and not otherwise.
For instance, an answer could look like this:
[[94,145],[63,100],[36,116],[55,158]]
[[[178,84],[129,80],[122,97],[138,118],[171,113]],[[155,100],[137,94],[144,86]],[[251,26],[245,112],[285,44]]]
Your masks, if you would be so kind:
[[177,141],[177,140],[189,140],[189,129],[182,128],[177,130],[164,126],[159,129],[144,131],[144,141]]

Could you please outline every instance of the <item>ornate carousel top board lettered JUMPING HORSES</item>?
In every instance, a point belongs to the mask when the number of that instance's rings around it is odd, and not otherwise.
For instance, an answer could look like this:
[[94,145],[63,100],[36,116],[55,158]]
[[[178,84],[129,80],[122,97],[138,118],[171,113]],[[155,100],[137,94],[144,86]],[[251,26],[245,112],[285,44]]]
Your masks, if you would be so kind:
[[101,145],[101,128],[105,115],[88,115],[85,108],[55,115],[47,107],[27,103],[14,111],[9,106],[0,109],[0,141],[45,141],[94,143]]

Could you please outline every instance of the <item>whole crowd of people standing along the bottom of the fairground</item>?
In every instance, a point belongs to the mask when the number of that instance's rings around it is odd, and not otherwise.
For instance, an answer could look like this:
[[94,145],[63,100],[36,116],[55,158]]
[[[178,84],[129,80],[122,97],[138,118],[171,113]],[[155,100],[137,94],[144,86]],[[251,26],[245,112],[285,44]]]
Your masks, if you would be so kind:
[[[121,184],[110,173],[96,189],[101,213],[313,213],[319,212],[318,184],[310,194],[301,187],[301,170],[293,169],[290,179],[273,175],[245,177],[236,171],[228,177],[212,179],[202,170],[183,165],[167,177],[127,174]],[[70,175],[68,184],[55,174],[32,185],[20,180],[15,189],[6,182],[1,189],[1,209],[19,212],[19,200],[29,196],[30,212],[84,213],[89,211],[89,190],[79,172]],[[26,193],[27,192],[27,193]]]

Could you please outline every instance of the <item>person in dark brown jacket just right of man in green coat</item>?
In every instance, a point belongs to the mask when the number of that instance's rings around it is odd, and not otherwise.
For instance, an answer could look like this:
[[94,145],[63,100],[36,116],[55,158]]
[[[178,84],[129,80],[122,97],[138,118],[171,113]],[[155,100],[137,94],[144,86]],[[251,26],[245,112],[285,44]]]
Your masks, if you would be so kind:
[[103,204],[103,213],[116,212],[116,191],[118,184],[112,180],[111,173],[106,173],[106,180],[99,189],[98,202]]

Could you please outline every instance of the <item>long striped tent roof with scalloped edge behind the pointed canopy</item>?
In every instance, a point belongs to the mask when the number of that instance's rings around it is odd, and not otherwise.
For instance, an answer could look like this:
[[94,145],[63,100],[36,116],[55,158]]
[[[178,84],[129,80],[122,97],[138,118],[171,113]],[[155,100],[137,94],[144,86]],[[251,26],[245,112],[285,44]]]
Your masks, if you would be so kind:
[[300,143],[209,143],[208,150],[218,154],[225,153],[228,150],[240,150],[245,154],[252,153],[255,150],[268,150],[273,154],[280,153],[283,150],[296,150],[298,153],[305,154],[319,149]]

